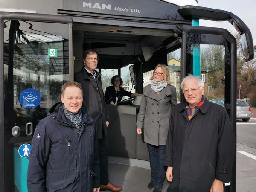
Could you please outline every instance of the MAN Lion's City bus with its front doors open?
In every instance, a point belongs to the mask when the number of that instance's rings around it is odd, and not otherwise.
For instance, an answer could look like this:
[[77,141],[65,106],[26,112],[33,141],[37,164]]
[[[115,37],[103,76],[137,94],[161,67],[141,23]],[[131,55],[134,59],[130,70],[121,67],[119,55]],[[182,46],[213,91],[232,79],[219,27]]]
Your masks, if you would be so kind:
[[[27,191],[29,158],[19,155],[20,146],[31,143],[38,122],[60,101],[61,86],[83,67],[88,48],[99,53],[103,86],[118,74],[127,90],[142,93],[154,67],[163,63],[183,102],[180,79],[187,74],[207,79],[202,48],[222,47],[225,108],[236,134],[236,38],[226,29],[198,26],[199,19],[230,22],[241,35],[244,60],[250,61],[250,29],[233,13],[200,7],[197,0],[0,2],[1,192]],[[143,167],[149,160],[143,137],[136,134],[139,108],[139,97],[108,105],[113,163]],[[226,191],[236,192],[236,162]]]

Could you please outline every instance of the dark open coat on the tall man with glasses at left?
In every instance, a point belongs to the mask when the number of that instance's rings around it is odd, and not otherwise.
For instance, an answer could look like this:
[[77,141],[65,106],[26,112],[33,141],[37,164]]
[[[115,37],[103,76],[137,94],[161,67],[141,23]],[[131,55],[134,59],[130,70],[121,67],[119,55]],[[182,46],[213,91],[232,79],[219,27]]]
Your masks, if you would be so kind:
[[83,105],[88,115],[93,118],[96,124],[98,138],[106,138],[108,111],[102,90],[101,74],[96,72],[94,79],[93,75],[88,73],[83,67],[81,71],[75,73],[75,81],[82,84],[84,94]]

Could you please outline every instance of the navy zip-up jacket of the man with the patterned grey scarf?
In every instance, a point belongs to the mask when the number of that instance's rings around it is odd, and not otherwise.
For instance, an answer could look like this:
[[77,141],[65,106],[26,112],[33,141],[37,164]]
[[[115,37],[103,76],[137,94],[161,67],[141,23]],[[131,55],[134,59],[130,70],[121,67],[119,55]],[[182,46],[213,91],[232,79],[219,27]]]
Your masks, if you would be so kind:
[[29,192],[92,192],[99,184],[98,137],[83,112],[80,134],[55,104],[35,128],[27,172]]

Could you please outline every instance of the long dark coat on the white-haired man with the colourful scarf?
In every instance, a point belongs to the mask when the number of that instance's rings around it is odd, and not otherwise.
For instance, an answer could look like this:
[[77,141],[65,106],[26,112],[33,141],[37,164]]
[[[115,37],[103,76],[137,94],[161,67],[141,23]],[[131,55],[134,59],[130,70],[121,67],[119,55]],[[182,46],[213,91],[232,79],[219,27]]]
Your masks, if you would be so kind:
[[235,137],[225,108],[209,102],[189,121],[184,103],[172,109],[164,163],[173,167],[172,192],[209,192],[215,179],[230,182]]

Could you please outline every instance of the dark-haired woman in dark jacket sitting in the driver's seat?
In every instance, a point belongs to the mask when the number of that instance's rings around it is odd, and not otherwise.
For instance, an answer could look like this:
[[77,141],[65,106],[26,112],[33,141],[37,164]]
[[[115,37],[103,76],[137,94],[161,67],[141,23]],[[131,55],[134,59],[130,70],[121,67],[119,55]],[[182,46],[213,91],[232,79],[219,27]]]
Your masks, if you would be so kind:
[[131,93],[122,88],[123,80],[116,75],[111,78],[111,86],[106,88],[105,102],[112,105],[119,105],[123,96],[136,97],[141,94]]

